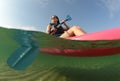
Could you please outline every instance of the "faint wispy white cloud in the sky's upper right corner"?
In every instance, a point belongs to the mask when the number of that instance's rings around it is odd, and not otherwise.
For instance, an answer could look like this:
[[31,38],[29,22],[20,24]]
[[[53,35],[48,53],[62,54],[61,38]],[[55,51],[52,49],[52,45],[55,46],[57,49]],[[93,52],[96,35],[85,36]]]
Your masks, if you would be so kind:
[[120,11],[120,0],[101,0],[103,6],[108,9],[110,17]]

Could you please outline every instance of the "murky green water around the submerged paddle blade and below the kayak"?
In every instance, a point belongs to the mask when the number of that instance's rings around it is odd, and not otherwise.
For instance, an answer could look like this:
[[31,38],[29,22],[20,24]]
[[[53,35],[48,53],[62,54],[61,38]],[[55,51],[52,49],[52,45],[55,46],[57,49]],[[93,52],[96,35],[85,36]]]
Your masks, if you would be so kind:
[[[6,60],[19,47],[12,38],[15,31],[0,28],[0,81],[120,81],[119,54],[104,57],[65,57],[39,53],[27,69],[13,70]],[[51,47],[52,43],[45,45],[50,36],[38,32],[36,35],[44,39],[40,41],[41,47]],[[55,41],[53,44],[57,46]]]

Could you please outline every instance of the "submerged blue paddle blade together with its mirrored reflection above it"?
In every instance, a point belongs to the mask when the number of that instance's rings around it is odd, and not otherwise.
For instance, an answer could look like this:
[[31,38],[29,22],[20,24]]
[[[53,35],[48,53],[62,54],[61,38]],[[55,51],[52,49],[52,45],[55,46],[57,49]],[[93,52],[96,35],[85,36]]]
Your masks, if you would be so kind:
[[10,55],[7,64],[13,69],[24,70],[35,60],[39,44],[31,31],[16,30],[14,39],[20,47]]

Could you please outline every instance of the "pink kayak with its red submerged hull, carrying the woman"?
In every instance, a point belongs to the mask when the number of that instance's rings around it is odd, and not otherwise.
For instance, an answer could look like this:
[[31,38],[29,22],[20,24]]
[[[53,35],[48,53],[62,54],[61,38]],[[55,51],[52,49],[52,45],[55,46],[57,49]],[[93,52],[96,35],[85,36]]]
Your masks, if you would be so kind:
[[[120,28],[73,36],[67,39],[69,40],[49,39],[48,41],[59,41],[62,46],[41,48],[40,51],[53,55],[77,57],[107,56],[120,53]],[[56,45],[59,44],[56,43]]]

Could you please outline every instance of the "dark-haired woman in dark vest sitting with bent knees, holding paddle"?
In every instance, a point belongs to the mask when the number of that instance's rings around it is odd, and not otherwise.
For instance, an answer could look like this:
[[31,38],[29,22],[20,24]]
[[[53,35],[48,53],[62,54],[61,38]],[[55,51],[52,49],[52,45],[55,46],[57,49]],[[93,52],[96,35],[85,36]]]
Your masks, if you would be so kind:
[[79,26],[73,26],[69,28],[69,26],[63,21],[62,22],[65,27],[59,26],[60,21],[57,16],[52,16],[51,17],[51,23],[48,24],[46,33],[59,36],[61,38],[67,38],[67,37],[72,37],[72,36],[80,36],[83,34],[86,34],[84,30],[82,30]]

